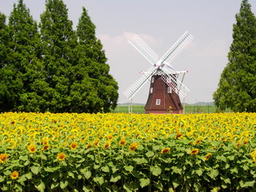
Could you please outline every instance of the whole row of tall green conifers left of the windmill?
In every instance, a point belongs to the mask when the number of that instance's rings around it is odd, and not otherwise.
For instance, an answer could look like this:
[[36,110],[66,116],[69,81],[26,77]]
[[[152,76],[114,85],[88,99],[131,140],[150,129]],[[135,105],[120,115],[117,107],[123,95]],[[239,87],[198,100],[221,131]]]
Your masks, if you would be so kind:
[[83,8],[78,31],[62,0],[47,0],[38,25],[22,0],[8,26],[0,14],[0,111],[108,112],[118,100],[95,26]]

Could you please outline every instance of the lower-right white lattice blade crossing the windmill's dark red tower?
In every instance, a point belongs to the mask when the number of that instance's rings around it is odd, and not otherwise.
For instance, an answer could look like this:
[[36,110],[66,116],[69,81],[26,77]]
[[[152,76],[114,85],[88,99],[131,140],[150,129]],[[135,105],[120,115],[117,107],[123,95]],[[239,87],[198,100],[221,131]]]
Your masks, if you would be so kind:
[[174,76],[174,74],[171,74],[170,71],[166,70],[165,67],[162,67],[161,70],[164,72],[161,75],[162,80],[166,82],[166,84],[170,86],[181,99],[185,98],[190,90],[184,86],[184,84],[180,82],[178,78]]

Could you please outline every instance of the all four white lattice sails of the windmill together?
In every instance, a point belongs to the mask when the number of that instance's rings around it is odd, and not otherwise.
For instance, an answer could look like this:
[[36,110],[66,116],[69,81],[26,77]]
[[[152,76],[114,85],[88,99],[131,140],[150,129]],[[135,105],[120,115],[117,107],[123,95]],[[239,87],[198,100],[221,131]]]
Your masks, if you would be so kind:
[[[166,82],[167,86],[170,86],[180,98],[184,98],[190,90],[186,88],[186,86],[184,86],[182,82],[180,82],[174,75],[177,73],[176,70],[170,66],[170,63],[173,62],[174,58],[176,58],[178,54],[184,50],[185,46],[189,44],[193,38],[194,37],[191,34],[185,32],[185,34],[183,34],[182,37],[174,43],[174,46],[171,46],[170,50],[167,50],[166,54],[164,54],[162,58],[158,59],[158,54],[156,54],[154,50],[152,50],[150,46],[146,44],[146,42],[143,42],[142,38],[139,38],[137,34],[134,34],[129,41],[130,44],[134,46],[134,48],[138,50],[138,52],[142,54],[142,56],[153,65],[153,67],[147,70],[141,78],[138,78],[138,80],[124,92],[126,97],[129,99],[133,98],[134,94],[136,94],[138,90],[142,88],[146,81],[152,75],[154,75],[157,70],[162,70],[162,80]],[[169,67],[172,72],[167,70],[166,67]]]

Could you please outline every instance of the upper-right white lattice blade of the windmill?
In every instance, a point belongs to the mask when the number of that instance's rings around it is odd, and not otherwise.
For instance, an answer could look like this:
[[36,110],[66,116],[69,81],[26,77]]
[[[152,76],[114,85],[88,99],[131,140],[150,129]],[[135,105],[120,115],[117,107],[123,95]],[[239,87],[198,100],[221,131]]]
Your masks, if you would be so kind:
[[170,47],[170,50],[167,50],[166,54],[160,58],[160,61],[163,62],[173,62],[174,58],[181,53],[182,50],[194,39],[194,37],[189,33],[185,32],[181,38],[178,39],[177,42],[174,43],[173,46]]

